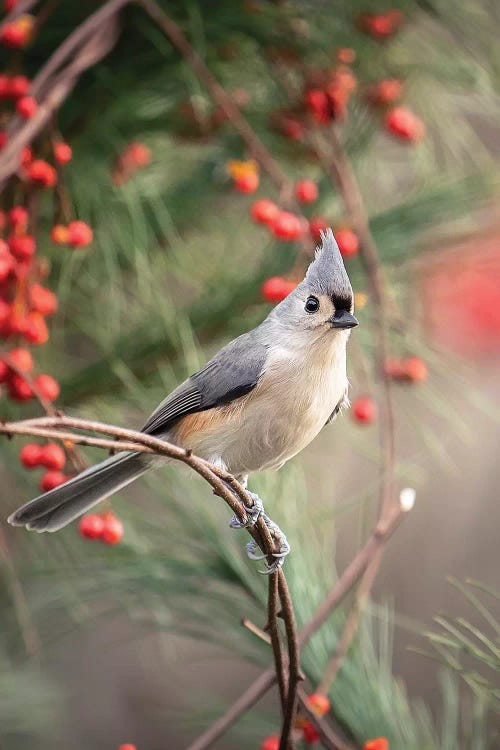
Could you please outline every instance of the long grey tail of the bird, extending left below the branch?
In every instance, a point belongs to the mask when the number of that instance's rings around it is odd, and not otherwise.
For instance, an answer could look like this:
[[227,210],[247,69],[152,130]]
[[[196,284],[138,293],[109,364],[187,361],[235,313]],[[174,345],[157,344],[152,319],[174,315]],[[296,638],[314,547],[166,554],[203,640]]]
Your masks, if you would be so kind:
[[13,526],[36,531],[58,531],[93,505],[126,487],[150,466],[151,459],[146,456],[118,453],[26,503],[8,521]]

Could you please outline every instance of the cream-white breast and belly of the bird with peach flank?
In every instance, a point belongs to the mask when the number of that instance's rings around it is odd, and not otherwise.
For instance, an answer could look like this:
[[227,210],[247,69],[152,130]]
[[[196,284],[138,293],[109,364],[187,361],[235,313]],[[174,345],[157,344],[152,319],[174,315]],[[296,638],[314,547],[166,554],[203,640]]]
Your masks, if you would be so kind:
[[277,468],[316,437],[346,388],[345,345],[276,348],[253,391],[186,417],[178,442],[236,475]]

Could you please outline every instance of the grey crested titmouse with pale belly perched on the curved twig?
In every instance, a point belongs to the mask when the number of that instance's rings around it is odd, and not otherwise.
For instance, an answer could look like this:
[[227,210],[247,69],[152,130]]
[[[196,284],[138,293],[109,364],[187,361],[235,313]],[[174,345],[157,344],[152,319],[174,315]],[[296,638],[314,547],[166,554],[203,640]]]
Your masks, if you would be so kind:
[[[321,234],[304,279],[256,328],[226,344],[170,393],[142,432],[188,449],[232,474],[280,469],[348,406],[347,342],[358,325],[354,295],[331,229]],[[123,451],[31,500],[13,526],[54,532],[165,459]],[[290,546],[258,495],[247,522],[262,517],[279,542],[274,572]],[[254,559],[255,543],[247,545]]]

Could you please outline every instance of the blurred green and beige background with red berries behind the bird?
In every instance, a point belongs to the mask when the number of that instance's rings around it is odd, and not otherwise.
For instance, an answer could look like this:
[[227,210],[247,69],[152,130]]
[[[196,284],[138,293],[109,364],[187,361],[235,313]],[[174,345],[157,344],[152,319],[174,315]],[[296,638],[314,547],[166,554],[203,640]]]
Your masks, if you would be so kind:
[[[112,5],[4,3],[0,345],[21,374],[0,371],[1,418],[43,413],[24,367],[49,408],[140,427],[293,288],[331,226],[361,323],[348,360],[354,408],[251,483],[287,532],[286,575],[307,622],[378,502],[380,315],[336,170],[347,164],[387,281],[395,485],[417,500],[331,687],[332,715],[356,746],[384,736],[391,750],[498,747],[498,4],[153,4],[265,145],[280,184],[151,3],[124,3],[91,30],[105,38],[95,61],[55,81],[72,86],[9,167],[11,144],[57,88],[35,76]],[[265,621],[266,581],[245,534],[175,465],[99,508],[123,524],[114,544],[78,524],[50,536],[10,528],[40,481],[57,482],[47,473],[71,473],[27,470],[21,448],[43,443],[0,444],[0,746],[186,747],[270,663],[240,624]],[[304,649],[312,689],[350,603]],[[258,748],[278,728],[272,693],[215,747]]]

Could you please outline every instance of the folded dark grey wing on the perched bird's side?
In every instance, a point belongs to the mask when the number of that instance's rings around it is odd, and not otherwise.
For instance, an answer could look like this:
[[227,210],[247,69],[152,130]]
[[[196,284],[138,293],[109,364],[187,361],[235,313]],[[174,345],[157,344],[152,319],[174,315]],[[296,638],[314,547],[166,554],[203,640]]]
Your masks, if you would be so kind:
[[181,417],[227,404],[249,393],[262,377],[267,346],[256,331],[239,336],[199,372],[181,383],[150,416],[143,432],[167,432]]

